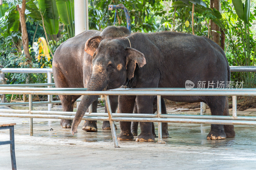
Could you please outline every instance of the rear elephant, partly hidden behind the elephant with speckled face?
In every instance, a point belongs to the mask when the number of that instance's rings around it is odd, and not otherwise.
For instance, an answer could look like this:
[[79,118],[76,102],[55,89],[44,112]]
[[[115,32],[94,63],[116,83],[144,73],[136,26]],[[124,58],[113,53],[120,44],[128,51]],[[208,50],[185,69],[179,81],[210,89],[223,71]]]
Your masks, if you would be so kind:
[[[52,61],[53,77],[56,87],[87,88],[92,74],[92,56],[84,51],[85,42],[95,36],[102,39],[129,35],[130,32],[123,26],[108,26],[102,33],[88,30],[62,43],[55,51]],[[63,111],[73,112],[75,101],[80,95],[59,95]],[[117,96],[109,96],[112,112],[118,105]],[[93,102],[93,112],[97,112],[98,100]],[[71,128],[72,120],[61,120],[62,128]],[[83,129],[97,131],[97,121],[85,121]],[[110,129],[108,121],[104,121],[102,129]]]

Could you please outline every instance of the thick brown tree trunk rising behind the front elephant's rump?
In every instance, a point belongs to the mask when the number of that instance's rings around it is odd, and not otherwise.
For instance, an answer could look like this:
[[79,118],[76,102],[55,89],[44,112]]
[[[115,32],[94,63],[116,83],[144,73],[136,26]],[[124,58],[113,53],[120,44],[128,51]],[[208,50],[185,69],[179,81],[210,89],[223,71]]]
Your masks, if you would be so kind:
[[[220,0],[210,0],[211,8],[220,11]],[[211,20],[212,40],[220,45],[220,27]]]

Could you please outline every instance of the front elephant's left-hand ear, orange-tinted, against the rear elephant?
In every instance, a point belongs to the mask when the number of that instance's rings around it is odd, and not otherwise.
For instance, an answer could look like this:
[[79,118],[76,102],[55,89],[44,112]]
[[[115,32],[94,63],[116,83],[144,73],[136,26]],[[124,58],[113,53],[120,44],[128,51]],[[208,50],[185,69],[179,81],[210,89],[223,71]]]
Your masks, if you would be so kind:
[[101,40],[102,40],[101,36],[95,36],[95,37],[90,38],[85,43],[84,51],[87,54],[90,54],[90,55],[93,56],[94,52],[99,47],[99,44],[100,44]]

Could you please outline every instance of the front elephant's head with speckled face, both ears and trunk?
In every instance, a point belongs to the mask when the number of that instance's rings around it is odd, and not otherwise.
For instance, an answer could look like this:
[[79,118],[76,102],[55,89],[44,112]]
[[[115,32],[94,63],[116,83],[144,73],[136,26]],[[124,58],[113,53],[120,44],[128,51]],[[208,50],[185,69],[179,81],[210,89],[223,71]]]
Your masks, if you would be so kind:
[[[127,38],[104,39],[96,36],[85,44],[85,51],[92,55],[92,76],[87,91],[104,91],[119,88],[134,77],[136,65],[146,64],[144,55],[130,47]],[[84,95],[77,109],[71,133],[77,133],[85,111],[97,98],[97,95]]]

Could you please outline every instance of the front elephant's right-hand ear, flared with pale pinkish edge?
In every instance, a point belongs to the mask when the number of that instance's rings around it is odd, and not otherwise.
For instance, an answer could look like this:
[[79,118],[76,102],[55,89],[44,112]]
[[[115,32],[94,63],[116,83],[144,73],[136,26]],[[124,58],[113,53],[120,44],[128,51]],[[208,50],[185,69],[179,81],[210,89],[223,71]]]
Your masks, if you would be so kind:
[[139,67],[143,67],[146,64],[146,59],[144,54],[134,48],[127,47],[125,50],[127,78],[131,80],[134,77],[136,63]]

